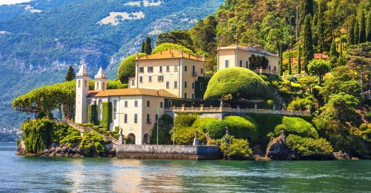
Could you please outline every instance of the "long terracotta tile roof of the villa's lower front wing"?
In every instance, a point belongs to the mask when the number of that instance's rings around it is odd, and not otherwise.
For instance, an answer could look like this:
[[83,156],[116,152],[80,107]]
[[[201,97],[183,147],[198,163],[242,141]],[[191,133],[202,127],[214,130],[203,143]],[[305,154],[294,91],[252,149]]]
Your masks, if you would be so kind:
[[89,91],[88,97],[108,97],[108,96],[132,96],[132,95],[147,95],[147,96],[159,96],[169,98],[180,98],[167,91],[157,91],[152,89],[110,89],[105,91]]

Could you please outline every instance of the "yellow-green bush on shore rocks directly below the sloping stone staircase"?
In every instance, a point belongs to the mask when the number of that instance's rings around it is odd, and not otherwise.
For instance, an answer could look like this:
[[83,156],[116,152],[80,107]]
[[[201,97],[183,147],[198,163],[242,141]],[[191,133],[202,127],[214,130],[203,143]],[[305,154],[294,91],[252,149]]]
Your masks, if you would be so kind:
[[84,133],[83,139],[80,143],[80,148],[84,149],[87,152],[96,151],[97,153],[104,152],[105,143],[103,137],[94,133],[86,132]]

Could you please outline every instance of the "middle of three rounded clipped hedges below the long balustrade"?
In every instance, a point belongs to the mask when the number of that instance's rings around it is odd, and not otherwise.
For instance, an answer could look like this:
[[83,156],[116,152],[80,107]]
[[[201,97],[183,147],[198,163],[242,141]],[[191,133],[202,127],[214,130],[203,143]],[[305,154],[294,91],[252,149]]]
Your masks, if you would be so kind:
[[248,139],[257,142],[257,126],[253,119],[247,116],[227,116],[224,122],[228,125],[229,134],[237,139]]

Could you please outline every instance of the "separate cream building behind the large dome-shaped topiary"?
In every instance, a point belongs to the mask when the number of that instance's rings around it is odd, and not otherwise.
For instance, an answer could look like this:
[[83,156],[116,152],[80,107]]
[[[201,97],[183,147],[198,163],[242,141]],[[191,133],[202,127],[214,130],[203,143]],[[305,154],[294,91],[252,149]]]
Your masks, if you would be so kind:
[[270,53],[260,46],[240,46],[232,44],[227,47],[218,47],[218,71],[228,67],[244,67],[250,70],[256,70],[259,66],[250,64],[249,58],[255,56],[264,56],[269,63],[265,70],[278,72],[278,54]]

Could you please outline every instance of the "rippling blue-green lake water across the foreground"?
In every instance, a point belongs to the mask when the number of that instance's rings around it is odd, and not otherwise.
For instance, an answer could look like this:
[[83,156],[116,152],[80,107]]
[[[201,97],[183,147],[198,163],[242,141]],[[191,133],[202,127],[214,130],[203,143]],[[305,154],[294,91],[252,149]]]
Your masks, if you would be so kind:
[[48,158],[15,151],[15,143],[0,143],[0,192],[371,191],[371,160]]

